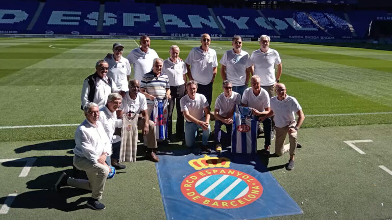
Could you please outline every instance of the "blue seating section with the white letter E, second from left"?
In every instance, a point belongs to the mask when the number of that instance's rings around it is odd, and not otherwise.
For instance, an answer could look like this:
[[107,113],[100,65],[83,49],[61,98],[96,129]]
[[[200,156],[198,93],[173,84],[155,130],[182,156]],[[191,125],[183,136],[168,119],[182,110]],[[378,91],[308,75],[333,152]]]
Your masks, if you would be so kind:
[[99,3],[47,0],[33,34],[95,34]]

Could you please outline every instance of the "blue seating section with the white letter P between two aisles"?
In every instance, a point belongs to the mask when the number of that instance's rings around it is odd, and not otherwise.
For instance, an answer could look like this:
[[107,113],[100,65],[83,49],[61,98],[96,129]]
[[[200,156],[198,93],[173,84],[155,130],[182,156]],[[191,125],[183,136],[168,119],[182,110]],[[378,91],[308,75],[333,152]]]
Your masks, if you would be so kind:
[[106,2],[104,35],[161,35],[155,4]]

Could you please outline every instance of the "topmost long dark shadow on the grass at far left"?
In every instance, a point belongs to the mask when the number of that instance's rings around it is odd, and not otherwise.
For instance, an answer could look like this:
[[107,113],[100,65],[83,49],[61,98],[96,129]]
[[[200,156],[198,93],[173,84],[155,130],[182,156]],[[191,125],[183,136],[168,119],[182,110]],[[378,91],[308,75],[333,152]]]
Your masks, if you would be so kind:
[[32,150],[67,150],[75,148],[75,140],[61,140],[61,141],[52,141],[52,142],[45,142],[39,143],[34,145],[27,145],[20,148],[16,148],[14,151],[15,153],[24,153],[27,151]]

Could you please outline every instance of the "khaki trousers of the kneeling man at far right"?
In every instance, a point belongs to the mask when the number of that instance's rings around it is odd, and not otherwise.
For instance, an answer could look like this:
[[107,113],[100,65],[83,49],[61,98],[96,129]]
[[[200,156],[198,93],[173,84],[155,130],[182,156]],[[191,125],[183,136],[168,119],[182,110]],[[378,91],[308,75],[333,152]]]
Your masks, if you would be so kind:
[[[288,125],[282,128],[278,128],[275,126],[275,154],[278,156],[282,156],[284,149],[284,140],[286,139],[286,135],[288,133]],[[288,134],[288,140],[290,141],[290,156],[296,155],[297,150],[297,132],[292,132]]]

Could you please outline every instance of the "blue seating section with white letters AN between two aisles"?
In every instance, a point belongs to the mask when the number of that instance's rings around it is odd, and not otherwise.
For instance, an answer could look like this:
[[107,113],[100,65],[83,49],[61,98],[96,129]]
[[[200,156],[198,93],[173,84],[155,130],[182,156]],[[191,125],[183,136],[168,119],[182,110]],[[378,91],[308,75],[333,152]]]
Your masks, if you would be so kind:
[[222,37],[207,6],[162,4],[161,11],[168,35],[200,36],[209,33]]

